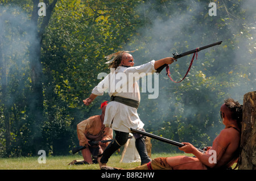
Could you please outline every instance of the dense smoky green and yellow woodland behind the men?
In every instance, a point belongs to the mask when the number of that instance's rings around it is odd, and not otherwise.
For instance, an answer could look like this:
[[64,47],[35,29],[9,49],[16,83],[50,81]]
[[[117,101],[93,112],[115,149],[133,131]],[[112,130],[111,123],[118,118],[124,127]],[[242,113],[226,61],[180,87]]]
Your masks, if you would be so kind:
[[[46,16],[39,16],[39,2]],[[0,155],[71,154],[78,145],[76,125],[101,113],[99,96],[82,100],[109,73],[105,56],[134,50],[135,65],[222,41],[199,52],[188,77],[171,82],[159,75],[159,96],[142,92],[138,113],[151,132],[197,147],[212,144],[223,128],[223,100],[242,103],[255,91],[255,1],[1,1]],[[191,56],[170,66],[183,78]],[[154,84],[153,84],[154,85]],[[152,152],[179,151],[152,140]]]

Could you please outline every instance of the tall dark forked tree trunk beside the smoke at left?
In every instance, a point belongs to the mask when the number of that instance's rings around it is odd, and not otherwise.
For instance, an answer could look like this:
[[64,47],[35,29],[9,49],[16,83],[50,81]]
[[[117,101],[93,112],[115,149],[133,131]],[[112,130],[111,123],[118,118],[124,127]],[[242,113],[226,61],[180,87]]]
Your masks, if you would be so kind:
[[[33,129],[34,131],[34,146],[35,153],[37,153],[40,146],[41,132],[40,126],[43,124],[43,68],[41,63],[41,47],[44,32],[46,27],[49,24],[49,20],[52,15],[52,11],[55,8],[57,0],[53,0],[50,4],[48,0],[44,1],[46,3],[46,16],[42,16],[39,19],[38,15],[38,4],[39,0],[33,0],[33,11],[31,14],[31,28],[35,28],[35,41],[30,42],[30,47],[28,48],[29,52],[29,61],[31,69],[31,95],[29,99],[29,112],[32,120],[35,121]],[[42,22],[42,23],[40,23]]]

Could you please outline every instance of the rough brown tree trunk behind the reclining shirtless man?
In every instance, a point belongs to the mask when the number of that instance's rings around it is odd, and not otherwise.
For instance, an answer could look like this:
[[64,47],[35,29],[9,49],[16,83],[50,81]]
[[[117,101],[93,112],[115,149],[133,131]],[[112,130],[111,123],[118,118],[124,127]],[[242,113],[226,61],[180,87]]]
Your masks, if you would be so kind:
[[243,96],[240,170],[256,170],[256,91]]

